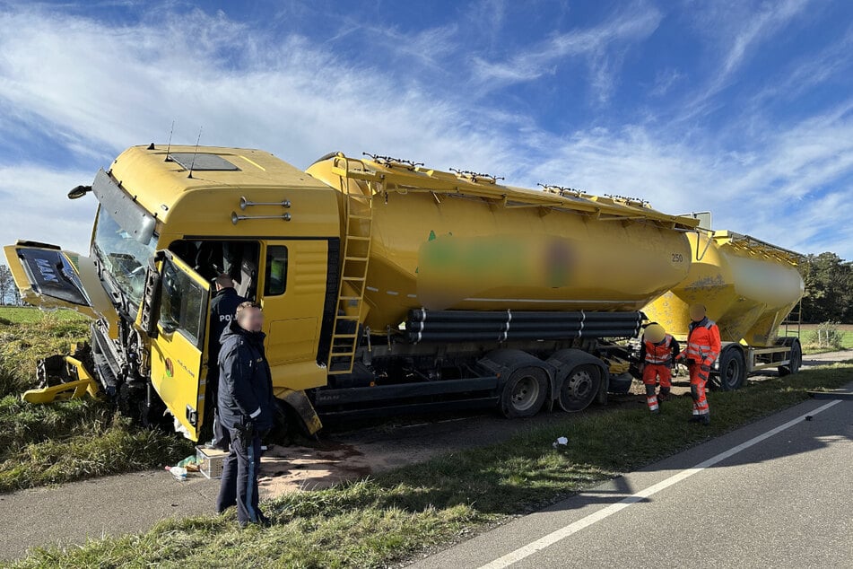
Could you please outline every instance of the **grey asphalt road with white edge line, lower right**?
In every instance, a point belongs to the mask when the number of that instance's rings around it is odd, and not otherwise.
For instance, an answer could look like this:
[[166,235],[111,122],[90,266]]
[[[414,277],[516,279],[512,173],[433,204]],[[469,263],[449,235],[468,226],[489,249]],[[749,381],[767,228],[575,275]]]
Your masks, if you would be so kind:
[[853,400],[806,401],[412,567],[575,566],[853,567]]

